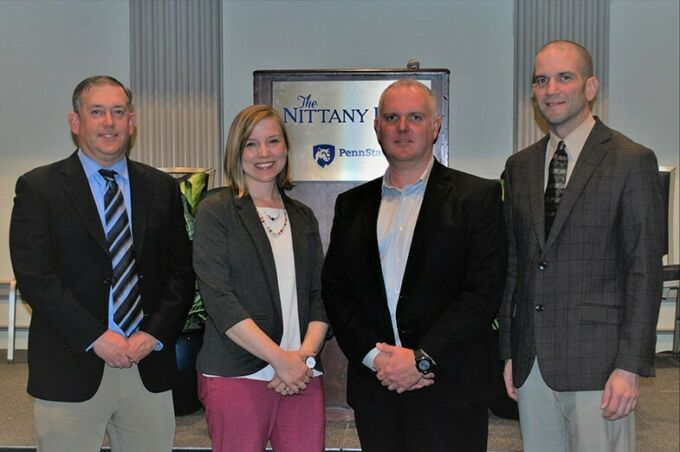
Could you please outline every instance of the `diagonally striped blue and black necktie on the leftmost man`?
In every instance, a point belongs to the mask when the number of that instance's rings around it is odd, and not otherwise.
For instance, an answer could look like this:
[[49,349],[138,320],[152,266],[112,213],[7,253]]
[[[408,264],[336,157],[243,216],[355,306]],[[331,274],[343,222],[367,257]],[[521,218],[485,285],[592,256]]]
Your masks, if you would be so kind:
[[130,221],[123,201],[123,191],[116,183],[116,172],[100,169],[99,174],[106,179],[104,212],[106,243],[113,269],[113,321],[129,336],[137,329],[143,316]]

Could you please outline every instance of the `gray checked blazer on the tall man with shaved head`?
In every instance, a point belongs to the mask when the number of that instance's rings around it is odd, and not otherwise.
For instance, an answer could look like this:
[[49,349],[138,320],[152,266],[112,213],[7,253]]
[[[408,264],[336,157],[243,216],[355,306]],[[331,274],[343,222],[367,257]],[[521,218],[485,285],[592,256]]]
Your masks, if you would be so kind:
[[547,142],[505,168],[501,356],[512,357],[518,387],[534,357],[558,391],[601,390],[615,368],[653,375],[664,231],[656,157],[596,118],[545,237]]

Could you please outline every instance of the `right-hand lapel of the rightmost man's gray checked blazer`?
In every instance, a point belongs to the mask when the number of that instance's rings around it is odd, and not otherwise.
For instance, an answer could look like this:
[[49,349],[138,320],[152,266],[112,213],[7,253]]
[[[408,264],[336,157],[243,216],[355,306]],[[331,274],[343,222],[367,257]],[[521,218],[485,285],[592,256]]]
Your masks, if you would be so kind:
[[555,237],[560,233],[562,226],[564,226],[569,213],[574,208],[588,180],[590,180],[590,177],[607,154],[607,147],[603,143],[611,138],[611,132],[599,120],[596,121],[595,127],[583,145],[581,154],[576,161],[576,166],[569,178],[567,188],[564,190],[564,195],[550,229],[550,235],[546,238],[546,248],[555,241]]

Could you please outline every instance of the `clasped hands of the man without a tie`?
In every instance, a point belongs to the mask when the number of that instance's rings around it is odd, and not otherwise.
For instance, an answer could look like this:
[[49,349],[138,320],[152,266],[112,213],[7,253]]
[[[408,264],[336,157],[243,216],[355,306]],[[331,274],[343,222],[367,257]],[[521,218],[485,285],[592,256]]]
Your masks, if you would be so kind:
[[390,391],[401,394],[434,384],[433,373],[423,375],[416,369],[416,358],[410,348],[384,342],[375,346],[380,351],[373,360],[376,377]]

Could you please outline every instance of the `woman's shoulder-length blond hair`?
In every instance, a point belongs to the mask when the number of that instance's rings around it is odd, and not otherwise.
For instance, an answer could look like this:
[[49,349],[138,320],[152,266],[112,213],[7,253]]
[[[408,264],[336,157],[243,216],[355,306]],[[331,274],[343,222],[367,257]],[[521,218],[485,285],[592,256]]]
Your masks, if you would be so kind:
[[[224,150],[224,180],[227,187],[231,187],[237,197],[242,198],[248,194],[246,177],[243,172],[243,148],[246,141],[253,133],[255,126],[263,119],[274,118],[281,128],[281,135],[286,145],[290,149],[288,134],[283,124],[281,115],[269,105],[251,105],[239,112],[234,118],[227,135],[227,145]],[[280,189],[288,190],[293,188],[290,174],[290,164],[286,156],[286,164],[281,172],[276,176],[276,185]]]

